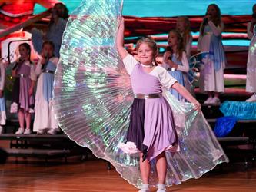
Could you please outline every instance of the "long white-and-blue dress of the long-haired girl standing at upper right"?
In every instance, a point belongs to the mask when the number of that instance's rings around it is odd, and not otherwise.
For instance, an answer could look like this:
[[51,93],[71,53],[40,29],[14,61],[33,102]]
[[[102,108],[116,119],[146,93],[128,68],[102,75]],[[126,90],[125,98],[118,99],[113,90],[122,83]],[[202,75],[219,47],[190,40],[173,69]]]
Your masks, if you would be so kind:
[[223,28],[223,23],[216,26],[210,21],[204,27],[203,35],[200,35],[198,39],[198,50],[208,52],[202,58],[200,68],[199,88],[202,92],[224,92],[224,68],[226,60],[224,47],[221,42]]

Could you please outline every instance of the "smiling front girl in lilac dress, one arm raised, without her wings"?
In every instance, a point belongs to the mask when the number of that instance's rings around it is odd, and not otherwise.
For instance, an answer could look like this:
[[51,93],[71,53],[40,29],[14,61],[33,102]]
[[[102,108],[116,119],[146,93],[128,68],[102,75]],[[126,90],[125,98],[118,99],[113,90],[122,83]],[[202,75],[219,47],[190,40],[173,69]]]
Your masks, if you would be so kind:
[[[141,38],[136,45],[138,61],[124,48],[124,19],[117,34],[117,48],[131,77],[135,100],[131,106],[127,141],[134,142],[140,152],[140,170],[143,180],[141,192],[147,192],[150,161],[156,158],[158,192],[165,191],[167,164],[165,149],[178,142],[171,107],[162,97],[161,87],[174,88],[200,110],[200,104],[165,68],[155,66],[158,48],[150,38]],[[148,98],[148,99],[145,99]],[[156,111],[156,108],[159,110]],[[160,121],[161,120],[161,121]]]

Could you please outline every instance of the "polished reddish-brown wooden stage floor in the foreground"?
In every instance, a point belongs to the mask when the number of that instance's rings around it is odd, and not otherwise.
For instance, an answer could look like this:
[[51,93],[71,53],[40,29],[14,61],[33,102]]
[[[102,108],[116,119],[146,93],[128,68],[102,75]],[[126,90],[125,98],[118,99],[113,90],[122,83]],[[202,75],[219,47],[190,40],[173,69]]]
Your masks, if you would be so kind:
[[[231,167],[233,170],[231,170]],[[168,192],[245,192],[256,189],[256,169],[243,171],[238,165],[224,164],[224,170],[214,170],[198,180],[188,180],[178,186],[169,187]],[[68,162],[48,164],[44,161],[18,164],[8,162],[0,165],[0,191],[38,192],[121,192],[138,191],[126,180],[121,179],[115,169],[107,170],[105,161]],[[152,189],[151,191],[156,191]]]

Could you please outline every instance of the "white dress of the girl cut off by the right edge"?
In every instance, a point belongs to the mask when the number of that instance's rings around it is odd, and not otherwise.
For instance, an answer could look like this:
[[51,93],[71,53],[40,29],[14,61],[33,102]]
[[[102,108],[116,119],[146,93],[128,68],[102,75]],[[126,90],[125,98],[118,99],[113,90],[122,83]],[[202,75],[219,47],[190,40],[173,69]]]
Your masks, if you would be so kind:
[[248,23],[248,38],[251,39],[248,61],[247,61],[247,75],[246,75],[246,91],[256,92],[256,25],[254,26],[254,35],[250,31],[251,22]]

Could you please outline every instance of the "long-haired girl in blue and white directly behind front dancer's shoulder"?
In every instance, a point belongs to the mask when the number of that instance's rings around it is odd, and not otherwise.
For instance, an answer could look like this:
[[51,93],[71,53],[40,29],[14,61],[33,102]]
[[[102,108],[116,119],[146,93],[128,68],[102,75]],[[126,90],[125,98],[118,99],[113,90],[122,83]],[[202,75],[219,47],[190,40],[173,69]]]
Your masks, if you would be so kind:
[[[185,86],[188,91],[191,91],[191,84],[188,82],[188,58],[184,51],[184,44],[181,34],[172,30],[168,35],[168,51],[164,54],[163,67],[168,70],[169,74],[175,78],[179,84]],[[178,94],[178,92],[171,88],[171,94],[175,95],[180,101],[185,101],[185,98]]]

